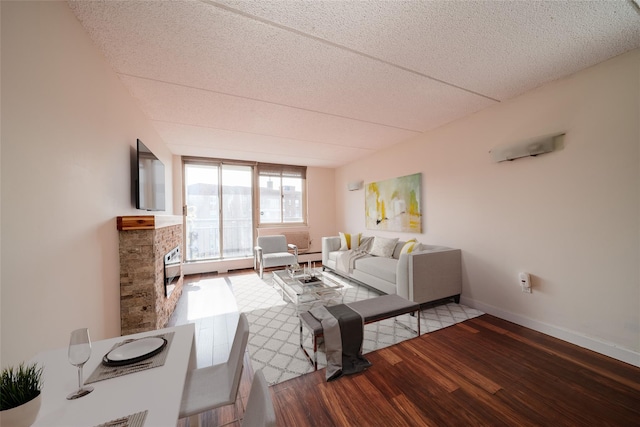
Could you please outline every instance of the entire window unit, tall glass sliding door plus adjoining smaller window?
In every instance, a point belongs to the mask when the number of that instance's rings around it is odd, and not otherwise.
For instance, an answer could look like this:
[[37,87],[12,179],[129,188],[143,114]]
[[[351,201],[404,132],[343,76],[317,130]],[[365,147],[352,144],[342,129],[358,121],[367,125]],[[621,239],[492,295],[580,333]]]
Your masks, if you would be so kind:
[[251,257],[257,226],[306,222],[306,167],[185,158],[183,168],[187,262]]

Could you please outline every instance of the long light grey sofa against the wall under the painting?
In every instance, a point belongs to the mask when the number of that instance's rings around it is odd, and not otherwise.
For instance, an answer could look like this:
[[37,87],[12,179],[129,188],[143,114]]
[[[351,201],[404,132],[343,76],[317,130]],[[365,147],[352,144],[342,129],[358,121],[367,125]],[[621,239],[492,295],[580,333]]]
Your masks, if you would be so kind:
[[344,258],[340,257],[352,251],[340,250],[340,236],[323,237],[322,266],[382,293],[398,294],[418,304],[445,298],[454,298],[459,303],[460,249],[422,244],[417,251],[401,254],[404,244],[398,241],[391,257],[360,253],[352,261],[352,268],[346,268]]

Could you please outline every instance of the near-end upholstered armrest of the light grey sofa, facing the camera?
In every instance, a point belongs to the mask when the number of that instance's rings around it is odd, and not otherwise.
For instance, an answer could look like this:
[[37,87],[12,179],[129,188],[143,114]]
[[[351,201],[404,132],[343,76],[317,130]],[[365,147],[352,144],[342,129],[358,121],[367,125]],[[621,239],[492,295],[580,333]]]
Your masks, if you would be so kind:
[[398,295],[423,304],[462,293],[462,252],[438,247],[400,255]]

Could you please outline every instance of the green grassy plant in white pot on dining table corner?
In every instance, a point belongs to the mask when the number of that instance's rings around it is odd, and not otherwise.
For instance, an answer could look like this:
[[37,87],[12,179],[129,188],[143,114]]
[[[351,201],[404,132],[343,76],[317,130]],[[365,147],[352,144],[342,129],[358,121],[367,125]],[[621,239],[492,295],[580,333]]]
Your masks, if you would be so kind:
[[0,377],[0,424],[30,426],[40,410],[42,368],[33,363],[2,370]]

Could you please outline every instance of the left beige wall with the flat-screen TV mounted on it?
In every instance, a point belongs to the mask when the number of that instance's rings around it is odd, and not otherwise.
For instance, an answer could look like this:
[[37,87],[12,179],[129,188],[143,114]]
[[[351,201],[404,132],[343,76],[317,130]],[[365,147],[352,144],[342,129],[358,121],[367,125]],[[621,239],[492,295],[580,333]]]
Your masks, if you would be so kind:
[[[66,2],[2,2],[2,365],[120,334],[116,217],[140,138],[171,153]],[[173,213],[173,212],[168,212]]]

